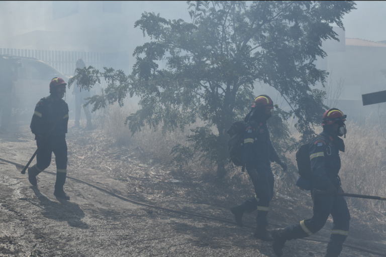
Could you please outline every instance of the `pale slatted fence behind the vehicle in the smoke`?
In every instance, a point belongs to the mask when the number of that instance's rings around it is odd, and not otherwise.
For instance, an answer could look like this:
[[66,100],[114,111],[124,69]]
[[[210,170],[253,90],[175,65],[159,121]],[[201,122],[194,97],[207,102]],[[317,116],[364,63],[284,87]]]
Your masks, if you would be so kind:
[[66,75],[74,74],[78,58],[82,58],[87,67],[91,65],[97,69],[108,66],[102,63],[112,64],[111,60],[107,61],[112,54],[107,53],[0,48],[0,54],[36,58]]

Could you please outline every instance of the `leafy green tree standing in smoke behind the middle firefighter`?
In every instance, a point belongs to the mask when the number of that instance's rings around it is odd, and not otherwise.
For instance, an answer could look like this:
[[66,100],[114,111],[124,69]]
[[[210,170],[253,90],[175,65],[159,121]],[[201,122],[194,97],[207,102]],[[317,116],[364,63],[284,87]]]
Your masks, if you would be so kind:
[[[274,136],[289,137],[282,122],[294,115],[303,140],[310,139],[314,135],[311,126],[320,121],[326,108],[325,92],[312,87],[317,82],[324,86],[328,75],[317,69],[314,61],[317,56],[327,56],[321,49],[322,40],[338,40],[331,24],[343,28],[341,19],[355,9],[354,2],[187,4],[191,22],[142,14],[135,27],[144,37],[149,36],[150,42],[135,49],[132,73],[126,76],[113,69],[100,73],[111,83],[106,94],[94,96],[90,102],[100,108],[115,101],[122,103],[126,94],[140,96],[141,108],[127,118],[132,133],[145,123],[157,127],[162,121],[162,130],[172,131],[198,118],[204,120],[207,125],[193,130],[195,135],[189,140],[217,163],[219,176],[226,171],[226,131],[248,112],[255,81],[275,88],[291,106],[291,111],[276,112],[281,119],[275,120],[281,122],[278,127],[283,127],[284,133]],[[160,60],[165,61],[164,68],[157,64]],[[73,79],[92,80],[95,71],[91,70],[78,70]],[[87,83],[82,86],[87,88]],[[213,126],[217,133],[210,129]]]

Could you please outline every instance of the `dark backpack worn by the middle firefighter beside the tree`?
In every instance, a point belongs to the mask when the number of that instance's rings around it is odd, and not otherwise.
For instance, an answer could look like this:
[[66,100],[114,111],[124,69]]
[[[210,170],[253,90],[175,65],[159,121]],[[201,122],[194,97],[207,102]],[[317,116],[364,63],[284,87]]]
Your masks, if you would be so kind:
[[245,163],[243,161],[245,125],[246,124],[243,121],[237,121],[233,123],[227,131],[228,135],[231,137],[228,141],[230,159],[235,166],[242,166],[242,172],[245,170]]

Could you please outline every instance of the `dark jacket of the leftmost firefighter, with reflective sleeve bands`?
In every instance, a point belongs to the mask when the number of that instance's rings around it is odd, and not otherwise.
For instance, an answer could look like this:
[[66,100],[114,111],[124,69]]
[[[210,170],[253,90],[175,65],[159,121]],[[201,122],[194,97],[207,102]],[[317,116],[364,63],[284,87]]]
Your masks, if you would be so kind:
[[52,95],[40,99],[36,104],[30,125],[35,139],[38,136],[46,136],[59,116],[60,120],[50,136],[60,136],[67,133],[68,105],[63,99],[55,100]]

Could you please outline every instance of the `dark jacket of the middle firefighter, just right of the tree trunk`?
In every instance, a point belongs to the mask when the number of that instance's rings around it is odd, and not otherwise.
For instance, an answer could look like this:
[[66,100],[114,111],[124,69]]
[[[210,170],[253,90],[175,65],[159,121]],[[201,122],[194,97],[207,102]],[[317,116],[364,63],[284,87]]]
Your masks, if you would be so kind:
[[271,171],[271,163],[279,161],[269,139],[266,121],[249,121],[245,126],[243,160],[247,171]]

